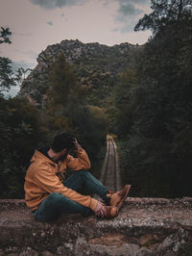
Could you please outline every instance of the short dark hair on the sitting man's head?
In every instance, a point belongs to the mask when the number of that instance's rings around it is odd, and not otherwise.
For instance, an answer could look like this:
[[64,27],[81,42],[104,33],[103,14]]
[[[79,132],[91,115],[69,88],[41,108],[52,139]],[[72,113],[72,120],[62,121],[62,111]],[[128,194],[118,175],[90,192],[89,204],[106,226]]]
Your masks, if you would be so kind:
[[60,152],[64,148],[70,149],[73,147],[74,141],[75,141],[75,138],[71,134],[69,134],[67,132],[60,132],[54,138],[51,148],[55,152]]

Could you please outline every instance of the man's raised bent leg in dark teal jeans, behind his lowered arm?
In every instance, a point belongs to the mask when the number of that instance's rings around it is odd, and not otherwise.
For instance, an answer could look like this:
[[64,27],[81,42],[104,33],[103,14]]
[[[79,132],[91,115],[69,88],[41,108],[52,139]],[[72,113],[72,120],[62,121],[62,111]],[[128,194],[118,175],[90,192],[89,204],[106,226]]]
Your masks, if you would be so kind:
[[67,180],[63,182],[64,186],[76,192],[82,188],[87,188],[90,192],[94,192],[101,196],[104,201],[108,201],[108,188],[106,188],[99,180],[97,180],[87,170],[74,171]]

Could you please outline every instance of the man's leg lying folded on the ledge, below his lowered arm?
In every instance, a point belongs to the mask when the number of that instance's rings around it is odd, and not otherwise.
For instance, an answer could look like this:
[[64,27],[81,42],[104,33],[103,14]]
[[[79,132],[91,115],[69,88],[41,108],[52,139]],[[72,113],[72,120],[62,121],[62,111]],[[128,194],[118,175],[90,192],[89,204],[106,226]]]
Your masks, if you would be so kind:
[[90,212],[89,208],[70,200],[59,192],[53,192],[38,207],[36,219],[45,222],[58,218],[61,214],[81,213],[88,216]]

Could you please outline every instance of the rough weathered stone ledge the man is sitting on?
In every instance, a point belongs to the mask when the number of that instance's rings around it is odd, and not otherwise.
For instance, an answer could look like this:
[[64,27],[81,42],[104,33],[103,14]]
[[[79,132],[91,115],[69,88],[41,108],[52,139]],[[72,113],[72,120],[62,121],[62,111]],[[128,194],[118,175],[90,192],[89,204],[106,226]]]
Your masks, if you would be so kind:
[[192,198],[128,198],[114,219],[37,222],[23,200],[0,200],[0,255],[192,255]]

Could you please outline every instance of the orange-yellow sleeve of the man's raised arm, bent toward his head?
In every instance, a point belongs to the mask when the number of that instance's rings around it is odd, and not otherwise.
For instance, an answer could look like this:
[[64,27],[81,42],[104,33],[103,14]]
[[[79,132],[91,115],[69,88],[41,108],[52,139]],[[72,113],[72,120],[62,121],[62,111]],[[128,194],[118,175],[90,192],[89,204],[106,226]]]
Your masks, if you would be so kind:
[[89,169],[91,167],[88,156],[83,148],[77,151],[77,158],[67,156],[66,166],[73,170]]

